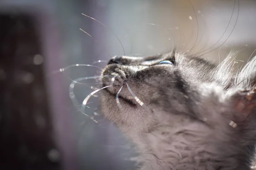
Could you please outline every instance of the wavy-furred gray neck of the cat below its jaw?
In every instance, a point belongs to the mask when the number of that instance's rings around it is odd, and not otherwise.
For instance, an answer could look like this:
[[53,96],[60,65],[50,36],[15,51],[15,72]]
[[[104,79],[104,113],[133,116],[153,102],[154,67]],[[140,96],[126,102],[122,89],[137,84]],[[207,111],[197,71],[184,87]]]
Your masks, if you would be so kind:
[[[214,137],[210,138],[205,128],[198,133],[192,132],[192,130],[191,134],[186,132],[188,128],[191,130],[193,127],[189,126],[180,130],[186,135],[177,133],[177,131],[172,132],[167,128],[166,130],[156,129],[150,133],[130,133],[129,136],[137,144],[140,152],[139,161],[144,162],[144,166],[146,166],[142,169],[215,170],[227,167],[223,170],[250,170],[249,163],[244,161],[248,160],[246,153],[242,156],[231,156],[236,154],[234,151],[237,148],[236,143],[233,146],[225,146],[224,142],[218,143]],[[198,129],[198,127],[194,128]],[[218,136],[215,137],[218,138]],[[207,138],[209,140],[206,140]],[[246,150],[246,148],[244,149]]]

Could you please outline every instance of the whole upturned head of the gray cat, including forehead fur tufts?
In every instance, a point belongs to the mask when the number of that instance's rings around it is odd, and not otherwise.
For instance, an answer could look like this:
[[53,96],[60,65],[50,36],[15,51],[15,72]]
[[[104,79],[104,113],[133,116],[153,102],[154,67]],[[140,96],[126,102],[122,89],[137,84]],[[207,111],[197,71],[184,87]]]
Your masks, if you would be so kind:
[[229,98],[226,91],[249,87],[255,79],[254,73],[239,82],[246,69],[238,75],[233,63],[230,56],[214,65],[175,51],[153,57],[113,57],[102,72],[110,76],[102,78],[109,83],[104,86],[113,85],[102,92],[102,113],[122,130],[134,132],[195,123],[200,128],[226,126],[236,114],[233,101],[224,102]]

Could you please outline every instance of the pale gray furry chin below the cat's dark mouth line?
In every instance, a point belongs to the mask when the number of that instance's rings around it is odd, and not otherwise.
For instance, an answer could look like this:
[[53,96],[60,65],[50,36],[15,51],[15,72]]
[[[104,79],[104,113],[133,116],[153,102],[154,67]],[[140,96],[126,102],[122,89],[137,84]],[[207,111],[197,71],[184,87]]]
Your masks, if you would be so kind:
[[122,108],[116,104],[116,98],[106,91],[100,97],[100,110],[103,116],[114,122],[121,130],[148,132],[154,125],[154,115],[148,106],[135,106],[120,99]]

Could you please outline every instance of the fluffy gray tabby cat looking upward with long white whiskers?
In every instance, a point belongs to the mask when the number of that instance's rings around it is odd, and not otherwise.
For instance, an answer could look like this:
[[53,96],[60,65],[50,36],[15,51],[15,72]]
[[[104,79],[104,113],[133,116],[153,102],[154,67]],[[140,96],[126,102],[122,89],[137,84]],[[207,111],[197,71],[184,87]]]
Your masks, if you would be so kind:
[[176,51],[109,61],[102,75],[115,76],[102,78],[113,86],[102,90],[101,111],[137,145],[141,169],[250,169],[256,57],[239,71],[234,62]]

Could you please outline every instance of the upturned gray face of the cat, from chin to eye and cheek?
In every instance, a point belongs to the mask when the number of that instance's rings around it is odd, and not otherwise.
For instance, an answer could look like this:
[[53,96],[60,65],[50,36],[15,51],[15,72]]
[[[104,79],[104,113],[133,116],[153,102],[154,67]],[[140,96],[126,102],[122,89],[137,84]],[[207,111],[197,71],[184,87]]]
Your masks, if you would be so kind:
[[[101,96],[104,116],[122,130],[148,132],[159,125],[177,128],[191,121],[204,121],[196,113],[201,102],[203,84],[216,86],[216,66],[185,54],[175,52],[154,57],[114,57],[102,75],[102,82],[113,87],[105,88]],[[135,100],[128,87],[139,99]],[[105,86],[110,85],[106,84]],[[219,84],[220,85],[220,84]],[[116,102],[116,94],[122,87]],[[217,88],[223,93],[224,88]]]

